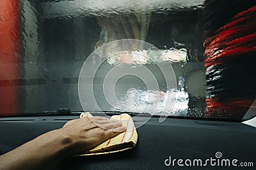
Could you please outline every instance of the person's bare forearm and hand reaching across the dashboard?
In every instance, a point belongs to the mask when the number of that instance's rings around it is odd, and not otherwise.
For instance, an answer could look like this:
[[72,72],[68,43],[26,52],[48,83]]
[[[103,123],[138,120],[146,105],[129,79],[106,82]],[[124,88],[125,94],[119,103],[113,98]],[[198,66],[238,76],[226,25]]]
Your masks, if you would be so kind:
[[0,169],[54,169],[65,157],[90,150],[124,131],[120,120],[102,117],[70,120],[62,128],[1,155]]

